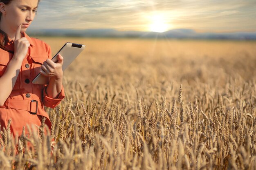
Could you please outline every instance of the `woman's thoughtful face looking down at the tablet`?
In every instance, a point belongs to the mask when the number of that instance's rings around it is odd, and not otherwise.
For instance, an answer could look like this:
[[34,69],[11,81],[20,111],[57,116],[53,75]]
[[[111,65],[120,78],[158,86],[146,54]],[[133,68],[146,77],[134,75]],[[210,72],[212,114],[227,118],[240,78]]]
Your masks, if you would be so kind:
[[20,32],[25,32],[34,20],[37,6],[38,0],[12,0],[5,5],[6,13],[2,16],[4,17],[5,26],[11,31],[16,31],[21,24]]

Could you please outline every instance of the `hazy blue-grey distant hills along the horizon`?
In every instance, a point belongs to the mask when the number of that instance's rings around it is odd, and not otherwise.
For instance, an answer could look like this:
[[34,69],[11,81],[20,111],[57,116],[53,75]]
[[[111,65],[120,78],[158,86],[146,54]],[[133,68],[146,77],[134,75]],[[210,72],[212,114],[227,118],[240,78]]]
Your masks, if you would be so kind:
[[256,32],[198,33],[193,29],[173,29],[163,33],[143,31],[117,31],[115,29],[41,29],[28,30],[29,35],[74,36],[109,38],[175,38],[175,39],[234,39],[256,40]]

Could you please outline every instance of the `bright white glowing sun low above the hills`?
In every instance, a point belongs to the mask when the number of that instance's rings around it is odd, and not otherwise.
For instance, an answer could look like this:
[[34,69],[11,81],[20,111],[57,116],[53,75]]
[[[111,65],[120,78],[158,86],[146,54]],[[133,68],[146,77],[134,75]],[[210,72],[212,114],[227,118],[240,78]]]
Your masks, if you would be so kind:
[[151,23],[148,26],[149,31],[162,33],[168,31],[168,29],[170,28],[170,25],[168,24],[166,17],[161,14],[153,15],[150,18],[150,22]]

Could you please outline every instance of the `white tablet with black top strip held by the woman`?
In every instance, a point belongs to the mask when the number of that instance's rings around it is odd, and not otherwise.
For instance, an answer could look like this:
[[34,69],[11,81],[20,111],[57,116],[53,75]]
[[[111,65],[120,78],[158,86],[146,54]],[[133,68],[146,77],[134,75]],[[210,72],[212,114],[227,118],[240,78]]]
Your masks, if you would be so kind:
[[[58,61],[58,54],[61,54],[63,56],[63,64],[62,64],[62,70],[64,71],[67,66],[69,66],[73,60],[83,51],[85,48],[85,45],[83,44],[75,44],[72,42],[67,42],[60,51],[54,57],[52,58],[53,62]],[[34,84],[48,84],[50,77],[46,77],[42,74],[38,74],[32,83]]]

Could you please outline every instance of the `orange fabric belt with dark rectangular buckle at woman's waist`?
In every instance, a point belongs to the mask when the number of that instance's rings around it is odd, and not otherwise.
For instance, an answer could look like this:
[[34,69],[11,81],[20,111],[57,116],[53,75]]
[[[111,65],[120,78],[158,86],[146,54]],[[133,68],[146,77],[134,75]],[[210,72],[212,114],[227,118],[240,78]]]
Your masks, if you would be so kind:
[[19,110],[27,110],[31,114],[36,114],[38,110],[38,106],[41,107],[40,102],[36,100],[20,100],[20,99],[10,99],[8,98],[3,106],[0,108],[12,108]]

